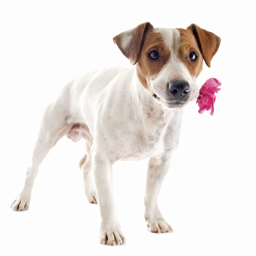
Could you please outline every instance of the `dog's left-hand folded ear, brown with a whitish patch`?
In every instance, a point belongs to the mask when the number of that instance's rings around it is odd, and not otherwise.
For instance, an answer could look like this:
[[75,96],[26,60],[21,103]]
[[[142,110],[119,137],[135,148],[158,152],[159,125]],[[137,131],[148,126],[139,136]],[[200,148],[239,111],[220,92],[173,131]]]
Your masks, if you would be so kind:
[[118,46],[122,54],[129,59],[132,65],[137,63],[145,35],[150,29],[153,29],[153,26],[149,22],[145,22],[113,38],[114,43]]

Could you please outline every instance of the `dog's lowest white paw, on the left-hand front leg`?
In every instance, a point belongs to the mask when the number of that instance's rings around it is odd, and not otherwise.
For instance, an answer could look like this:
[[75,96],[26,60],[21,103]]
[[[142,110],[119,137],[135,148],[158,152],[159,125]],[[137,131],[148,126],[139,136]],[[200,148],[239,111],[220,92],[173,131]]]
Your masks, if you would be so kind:
[[[119,226],[119,224],[117,226]],[[108,229],[102,224],[99,234],[99,242],[107,245],[120,245],[125,244],[125,237],[122,234],[121,228],[116,227]]]

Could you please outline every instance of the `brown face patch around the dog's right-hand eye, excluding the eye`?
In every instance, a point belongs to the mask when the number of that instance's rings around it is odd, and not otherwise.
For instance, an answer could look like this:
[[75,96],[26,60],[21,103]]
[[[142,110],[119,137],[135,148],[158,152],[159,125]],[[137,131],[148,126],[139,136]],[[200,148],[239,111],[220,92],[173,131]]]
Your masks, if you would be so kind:
[[[180,31],[180,45],[178,58],[189,70],[191,76],[198,77],[203,69],[203,58],[193,32],[190,29],[178,29]],[[198,58],[195,61],[189,59],[189,53],[195,52]]]

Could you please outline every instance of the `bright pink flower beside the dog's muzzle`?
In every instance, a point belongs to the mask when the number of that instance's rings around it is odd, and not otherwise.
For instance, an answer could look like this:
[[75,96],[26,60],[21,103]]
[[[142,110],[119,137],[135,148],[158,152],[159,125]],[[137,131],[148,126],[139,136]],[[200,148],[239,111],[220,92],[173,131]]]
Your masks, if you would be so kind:
[[196,101],[199,106],[199,113],[204,113],[205,110],[211,110],[210,115],[213,115],[213,105],[216,99],[214,93],[218,93],[221,90],[221,88],[218,88],[220,85],[221,82],[216,78],[210,78],[203,84]]

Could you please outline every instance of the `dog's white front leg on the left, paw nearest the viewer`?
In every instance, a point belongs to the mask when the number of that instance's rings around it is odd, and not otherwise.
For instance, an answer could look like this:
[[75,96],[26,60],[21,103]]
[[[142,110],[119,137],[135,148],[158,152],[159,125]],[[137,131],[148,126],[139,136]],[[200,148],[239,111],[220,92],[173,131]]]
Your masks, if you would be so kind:
[[112,163],[99,153],[92,153],[93,172],[99,197],[99,207],[102,217],[99,241],[101,244],[119,245],[125,243],[119,222],[116,217],[112,189]]

